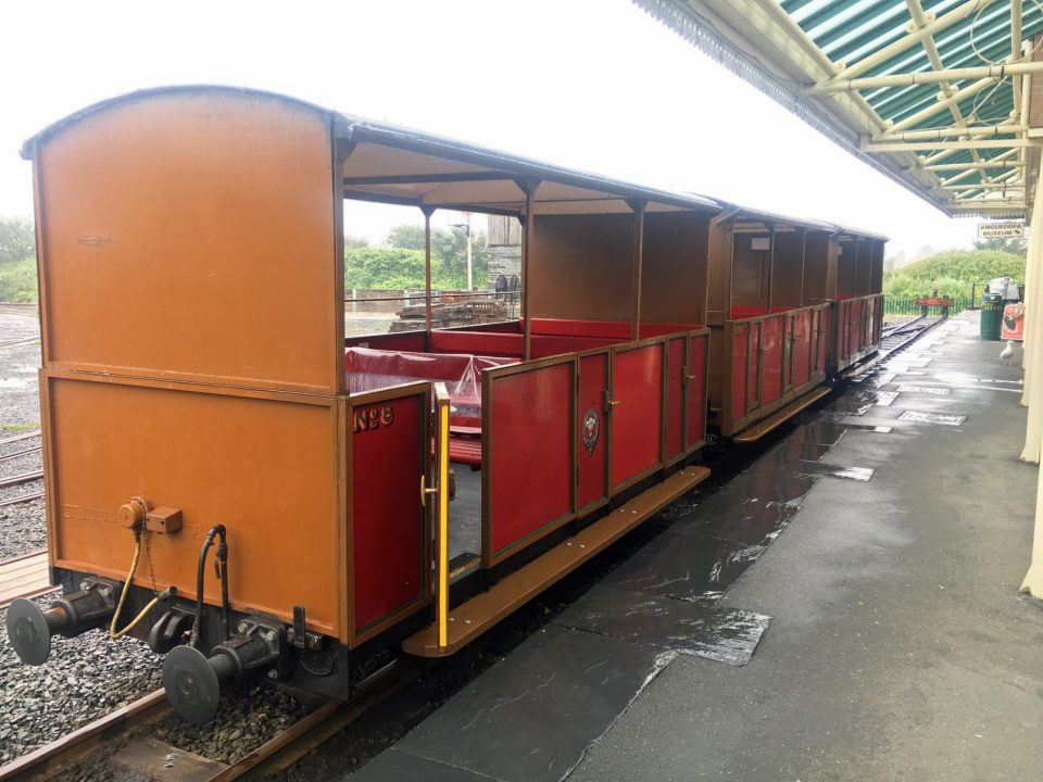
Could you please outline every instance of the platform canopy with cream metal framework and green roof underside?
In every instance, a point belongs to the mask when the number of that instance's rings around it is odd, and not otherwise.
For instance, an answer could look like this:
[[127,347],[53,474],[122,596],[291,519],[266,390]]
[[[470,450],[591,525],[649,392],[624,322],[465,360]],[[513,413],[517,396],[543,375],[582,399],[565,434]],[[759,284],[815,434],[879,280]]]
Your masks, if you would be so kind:
[[943,212],[1031,210],[1038,0],[633,1]]

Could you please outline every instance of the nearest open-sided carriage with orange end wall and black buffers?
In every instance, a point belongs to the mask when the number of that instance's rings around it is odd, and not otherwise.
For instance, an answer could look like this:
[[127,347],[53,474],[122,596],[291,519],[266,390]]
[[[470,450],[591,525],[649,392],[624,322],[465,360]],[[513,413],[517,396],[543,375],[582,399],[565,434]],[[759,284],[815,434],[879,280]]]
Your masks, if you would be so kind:
[[[64,588],[11,606],[27,663],[108,627],[196,721],[251,673],[345,696],[353,659],[452,654],[708,472],[713,201],[228,88],[24,154]],[[344,199],[423,212],[423,330],[345,339]],[[523,222],[520,319],[431,327],[440,209]]]

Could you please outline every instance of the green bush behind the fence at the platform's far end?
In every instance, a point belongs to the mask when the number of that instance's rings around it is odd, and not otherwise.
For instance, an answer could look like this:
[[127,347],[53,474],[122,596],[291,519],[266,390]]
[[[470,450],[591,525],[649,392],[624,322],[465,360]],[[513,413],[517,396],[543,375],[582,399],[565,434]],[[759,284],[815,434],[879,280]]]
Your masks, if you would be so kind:
[[885,272],[883,292],[894,299],[914,299],[938,288],[939,295],[969,298],[975,282],[987,282],[993,277],[1013,277],[1023,282],[1025,257],[997,250],[939,253]]

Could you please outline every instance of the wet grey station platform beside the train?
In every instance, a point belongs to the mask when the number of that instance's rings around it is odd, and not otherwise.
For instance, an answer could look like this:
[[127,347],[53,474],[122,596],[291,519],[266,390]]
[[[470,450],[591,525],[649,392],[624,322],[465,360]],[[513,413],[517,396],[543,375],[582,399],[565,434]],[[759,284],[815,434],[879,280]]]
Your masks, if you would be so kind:
[[1038,469],[1003,346],[965,314],[802,413],[350,779],[1038,779]]

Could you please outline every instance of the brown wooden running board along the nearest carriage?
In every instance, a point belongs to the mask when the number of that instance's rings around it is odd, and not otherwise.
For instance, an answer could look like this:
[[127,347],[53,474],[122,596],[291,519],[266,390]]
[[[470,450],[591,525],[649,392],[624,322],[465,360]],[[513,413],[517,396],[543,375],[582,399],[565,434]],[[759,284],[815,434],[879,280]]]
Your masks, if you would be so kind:
[[438,645],[438,626],[430,625],[405,639],[402,649],[418,657],[448,657],[458,652],[708,477],[709,470],[705,467],[686,467],[675,472],[498,581],[487,592],[453,608],[449,615],[449,643],[445,646]]

